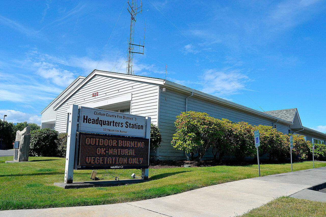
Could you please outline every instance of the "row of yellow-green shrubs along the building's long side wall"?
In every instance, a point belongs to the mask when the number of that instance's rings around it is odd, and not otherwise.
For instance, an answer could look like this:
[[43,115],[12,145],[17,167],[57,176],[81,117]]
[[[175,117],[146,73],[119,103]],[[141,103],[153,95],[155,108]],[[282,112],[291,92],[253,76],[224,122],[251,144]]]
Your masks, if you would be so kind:
[[[216,119],[207,113],[187,111],[176,117],[176,133],[171,145],[191,155],[192,160],[200,160],[205,152],[212,148],[215,159],[221,160],[226,155],[233,155],[237,161],[245,157],[256,157],[254,131],[259,130],[260,155],[268,154],[269,160],[283,162],[289,159],[289,136],[272,126],[251,125],[246,122],[233,123],[228,119]],[[294,134],[293,156],[307,159],[312,156],[312,144],[304,136]],[[326,159],[326,146],[315,144],[315,156],[318,160]]]

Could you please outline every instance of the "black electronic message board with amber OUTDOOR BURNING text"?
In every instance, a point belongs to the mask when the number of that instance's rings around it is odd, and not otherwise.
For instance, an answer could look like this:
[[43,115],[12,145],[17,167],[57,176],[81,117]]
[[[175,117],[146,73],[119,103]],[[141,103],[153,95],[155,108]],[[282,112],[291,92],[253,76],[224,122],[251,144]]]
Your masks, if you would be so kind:
[[78,133],[75,169],[147,169],[149,139]]

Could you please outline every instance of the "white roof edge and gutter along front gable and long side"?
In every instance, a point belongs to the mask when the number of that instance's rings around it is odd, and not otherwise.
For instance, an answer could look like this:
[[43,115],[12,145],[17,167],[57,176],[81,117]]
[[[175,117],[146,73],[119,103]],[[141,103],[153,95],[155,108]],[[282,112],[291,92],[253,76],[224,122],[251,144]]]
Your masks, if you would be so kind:
[[248,108],[248,107],[242,106],[240,104],[233,103],[233,102],[230,102],[228,100],[225,100],[225,99],[222,99],[222,98],[210,95],[210,94],[206,94],[206,93],[194,90],[192,88],[189,88],[189,87],[186,87],[186,86],[183,86],[183,85],[180,85],[180,84],[168,81],[168,80],[152,78],[152,77],[145,77],[145,76],[139,76],[139,75],[128,75],[128,74],[123,74],[123,73],[107,72],[107,71],[101,71],[101,70],[97,70],[97,69],[94,69],[94,71],[91,74],[89,74],[77,87],[75,87],[75,89],[73,91],[71,91],[69,94],[67,94],[54,107],[54,110],[57,110],[62,104],[65,103],[65,101],[67,101],[67,99],[69,99],[84,84],[86,84],[89,80],[91,80],[96,75],[103,75],[103,76],[109,76],[109,77],[113,77],[113,78],[122,78],[122,79],[136,80],[136,81],[147,82],[147,83],[158,84],[158,85],[165,85],[167,87],[170,87],[172,89],[179,90],[179,91],[182,91],[182,92],[194,93],[194,95],[197,95],[199,97],[202,97],[202,98],[205,98],[205,99],[208,99],[208,100],[215,101],[217,103],[224,104],[224,105],[229,106],[231,108],[237,108],[239,110],[246,111],[248,113],[254,113],[254,114],[259,115],[261,117],[269,118],[271,120],[278,120],[281,123],[292,125],[292,121],[289,122],[287,120],[283,120],[283,119],[281,119],[279,117],[274,117],[274,116],[272,116],[270,114],[266,114],[266,113],[258,111],[256,109]]

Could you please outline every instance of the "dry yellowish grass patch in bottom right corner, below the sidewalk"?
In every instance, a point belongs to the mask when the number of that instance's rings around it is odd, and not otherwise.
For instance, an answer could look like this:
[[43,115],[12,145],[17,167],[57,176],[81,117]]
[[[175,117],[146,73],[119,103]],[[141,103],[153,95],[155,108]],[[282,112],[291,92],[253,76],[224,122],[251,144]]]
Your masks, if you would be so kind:
[[326,203],[304,199],[296,199],[292,197],[280,197],[276,200],[267,203],[264,206],[249,211],[241,217],[251,216],[325,217]]

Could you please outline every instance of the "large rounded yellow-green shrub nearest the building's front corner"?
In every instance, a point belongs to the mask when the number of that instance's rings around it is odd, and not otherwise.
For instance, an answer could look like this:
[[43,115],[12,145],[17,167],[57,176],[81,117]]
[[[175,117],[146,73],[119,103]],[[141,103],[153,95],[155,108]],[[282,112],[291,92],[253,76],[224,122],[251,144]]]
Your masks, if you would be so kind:
[[176,118],[174,124],[177,130],[171,144],[178,150],[190,153],[192,160],[200,160],[222,135],[220,123],[207,113],[187,111]]

